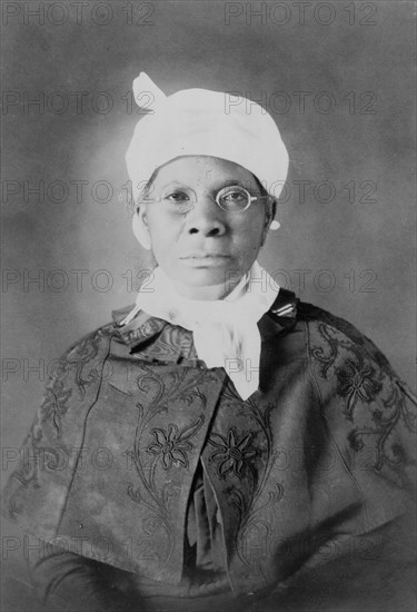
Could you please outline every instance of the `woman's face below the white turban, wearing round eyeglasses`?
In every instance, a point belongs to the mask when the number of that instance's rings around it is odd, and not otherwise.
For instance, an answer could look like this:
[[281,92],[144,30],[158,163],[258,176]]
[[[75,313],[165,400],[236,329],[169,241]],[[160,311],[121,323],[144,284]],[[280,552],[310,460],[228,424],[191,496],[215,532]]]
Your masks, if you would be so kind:
[[[226,185],[241,186],[260,199],[244,211],[222,210],[215,197]],[[190,194],[196,201],[185,214],[176,203]],[[177,290],[193,299],[219,299],[257,258],[271,221],[271,205],[241,166],[189,156],[159,168],[139,216],[158,265]]]

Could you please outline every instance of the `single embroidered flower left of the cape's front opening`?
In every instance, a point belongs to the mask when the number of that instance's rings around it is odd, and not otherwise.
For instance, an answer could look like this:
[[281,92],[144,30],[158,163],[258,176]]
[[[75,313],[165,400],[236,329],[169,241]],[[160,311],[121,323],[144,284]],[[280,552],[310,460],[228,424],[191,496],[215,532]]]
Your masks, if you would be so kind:
[[170,470],[172,464],[188,467],[187,453],[192,451],[193,444],[189,440],[198,432],[202,425],[202,418],[191,426],[178,431],[177,425],[170,423],[168,430],[155,428],[151,434],[155,437],[155,444],[147,448],[152,455],[160,455],[163,470]]

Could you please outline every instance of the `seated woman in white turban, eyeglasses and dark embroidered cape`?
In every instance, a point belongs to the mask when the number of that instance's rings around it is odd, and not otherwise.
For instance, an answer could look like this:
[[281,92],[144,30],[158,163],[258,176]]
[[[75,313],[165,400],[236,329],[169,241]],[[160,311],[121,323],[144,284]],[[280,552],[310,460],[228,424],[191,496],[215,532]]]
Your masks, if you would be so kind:
[[146,75],[133,88],[155,109],[127,154],[133,230],[158,267],[64,355],[9,481],[6,512],[44,543],[39,594],[51,610],[311,609],[321,569],[378,581],[409,507],[410,393],[257,264],[288,168],[272,119]]

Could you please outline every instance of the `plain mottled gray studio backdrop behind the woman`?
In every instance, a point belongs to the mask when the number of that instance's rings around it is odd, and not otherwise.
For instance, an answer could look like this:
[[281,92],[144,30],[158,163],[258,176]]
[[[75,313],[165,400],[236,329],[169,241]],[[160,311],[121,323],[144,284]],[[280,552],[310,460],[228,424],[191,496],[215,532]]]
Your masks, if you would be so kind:
[[141,70],[167,93],[225,90],[267,108],[290,169],[261,263],[357,325],[414,386],[411,2],[1,8],[7,448],[22,442],[53,359],[133,303],[146,277],[123,160]]

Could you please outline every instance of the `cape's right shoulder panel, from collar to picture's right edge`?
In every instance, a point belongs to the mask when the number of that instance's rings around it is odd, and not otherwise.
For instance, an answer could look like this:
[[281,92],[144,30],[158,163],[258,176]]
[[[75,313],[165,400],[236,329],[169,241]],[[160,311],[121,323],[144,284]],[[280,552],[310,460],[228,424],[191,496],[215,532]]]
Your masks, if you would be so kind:
[[[404,486],[414,468],[417,403],[376,345],[354,325],[300,304],[310,376],[328,431],[342,455]],[[353,460],[350,460],[353,461]],[[354,461],[354,463],[355,463]],[[360,463],[361,462],[361,463]],[[364,477],[359,470],[358,481]]]

